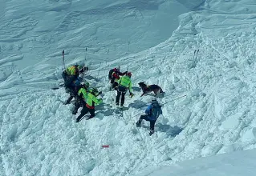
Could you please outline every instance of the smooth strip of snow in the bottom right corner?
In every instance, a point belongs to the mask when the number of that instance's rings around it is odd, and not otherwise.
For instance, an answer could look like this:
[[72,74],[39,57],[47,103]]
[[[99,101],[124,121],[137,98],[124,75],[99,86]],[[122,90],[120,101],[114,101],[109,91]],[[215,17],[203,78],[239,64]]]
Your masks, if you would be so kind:
[[245,150],[232,154],[221,154],[207,158],[197,158],[190,161],[177,163],[174,166],[148,168],[143,174],[136,176],[169,176],[169,175],[222,175],[241,176],[255,175],[255,150]]

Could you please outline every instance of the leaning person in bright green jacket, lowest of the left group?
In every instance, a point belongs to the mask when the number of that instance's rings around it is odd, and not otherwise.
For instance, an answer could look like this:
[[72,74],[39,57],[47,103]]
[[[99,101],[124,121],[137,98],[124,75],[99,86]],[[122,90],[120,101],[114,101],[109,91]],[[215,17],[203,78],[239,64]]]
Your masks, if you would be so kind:
[[85,106],[83,106],[83,110],[81,110],[81,114],[76,118],[76,122],[79,122],[81,118],[83,118],[83,115],[90,112],[90,118],[93,118],[95,116],[95,105],[99,105],[102,102],[102,98],[96,98],[98,95],[100,95],[101,92],[99,92],[96,88],[92,88],[91,91],[87,94],[87,100]]

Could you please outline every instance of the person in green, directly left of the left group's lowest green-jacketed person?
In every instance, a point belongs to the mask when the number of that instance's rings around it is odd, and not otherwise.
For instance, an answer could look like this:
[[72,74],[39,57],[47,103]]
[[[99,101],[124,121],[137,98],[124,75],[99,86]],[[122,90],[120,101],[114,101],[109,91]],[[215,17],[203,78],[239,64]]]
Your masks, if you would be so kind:
[[72,114],[76,114],[79,107],[85,106],[87,95],[89,93],[89,86],[89,82],[81,82],[78,93],[75,95],[75,107],[74,110],[72,110]]

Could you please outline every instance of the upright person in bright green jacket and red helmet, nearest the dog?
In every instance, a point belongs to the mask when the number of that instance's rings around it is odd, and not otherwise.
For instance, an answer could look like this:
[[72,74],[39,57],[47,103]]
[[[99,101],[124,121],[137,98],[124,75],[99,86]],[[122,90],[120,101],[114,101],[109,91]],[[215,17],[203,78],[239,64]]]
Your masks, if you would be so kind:
[[124,95],[126,94],[127,90],[129,90],[130,97],[133,96],[131,77],[132,77],[132,73],[128,72],[118,80],[116,106],[119,106],[120,96],[121,96],[121,105],[120,106],[124,107]]

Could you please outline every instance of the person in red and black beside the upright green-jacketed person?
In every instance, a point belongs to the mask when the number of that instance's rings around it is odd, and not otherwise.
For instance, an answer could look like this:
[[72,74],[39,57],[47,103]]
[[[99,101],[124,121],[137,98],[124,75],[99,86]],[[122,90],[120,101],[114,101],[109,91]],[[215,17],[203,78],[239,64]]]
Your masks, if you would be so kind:
[[125,71],[124,73],[120,72],[120,66],[112,70],[109,70],[108,79],[110,80],[110,84],[111,84],[110,90],[117,89],[117,86],[118,86],[117,81],[120,79],[120,76],[124,76],[124,74],[127,74],[127,71]]

